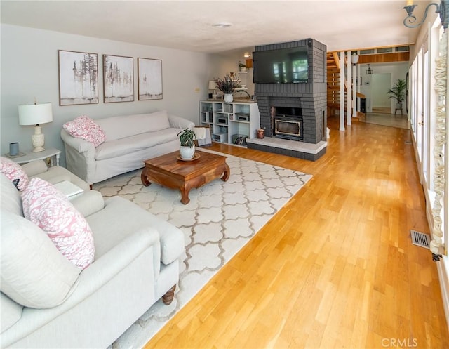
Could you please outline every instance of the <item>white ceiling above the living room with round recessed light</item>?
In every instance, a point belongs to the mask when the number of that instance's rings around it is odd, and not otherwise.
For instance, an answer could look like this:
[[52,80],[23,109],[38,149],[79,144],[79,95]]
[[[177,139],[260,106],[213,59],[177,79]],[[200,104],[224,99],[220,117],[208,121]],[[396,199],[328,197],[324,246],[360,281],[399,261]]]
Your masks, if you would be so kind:
[[[415,0],[418,20],[429,2]],[[403,25],[405,5],[406,0],[1,0],[1,22],[204,53],[309,37],[328,51],[346,51],[415,43],[417,29]],[[217,22],[232,26],[212,27]]]

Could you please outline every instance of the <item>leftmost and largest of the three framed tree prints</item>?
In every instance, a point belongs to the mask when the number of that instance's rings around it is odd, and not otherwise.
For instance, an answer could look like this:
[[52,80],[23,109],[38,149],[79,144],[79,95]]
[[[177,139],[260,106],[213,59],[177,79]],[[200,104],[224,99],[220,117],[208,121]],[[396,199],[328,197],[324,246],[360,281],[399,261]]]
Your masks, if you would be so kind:
[[58,50],[59,105],[98,103],[96,53]]

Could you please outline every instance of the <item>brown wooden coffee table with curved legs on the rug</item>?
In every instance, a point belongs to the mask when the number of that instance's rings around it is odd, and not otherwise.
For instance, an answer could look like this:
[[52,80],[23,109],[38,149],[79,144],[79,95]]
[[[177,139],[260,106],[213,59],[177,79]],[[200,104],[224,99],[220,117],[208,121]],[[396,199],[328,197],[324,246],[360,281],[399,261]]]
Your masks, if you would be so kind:
[[178,159],[179,154],[180,152],[170,152],[146,160],[140,175],[143,185],[147,187],[151,183],[158,183],[164,187],[179,189],[182,204],[188,204],[192,187],[199,188],[220,176],[221,180],[228,180],[230,170],[226,157],[196,150],[198,159],[182,161]]

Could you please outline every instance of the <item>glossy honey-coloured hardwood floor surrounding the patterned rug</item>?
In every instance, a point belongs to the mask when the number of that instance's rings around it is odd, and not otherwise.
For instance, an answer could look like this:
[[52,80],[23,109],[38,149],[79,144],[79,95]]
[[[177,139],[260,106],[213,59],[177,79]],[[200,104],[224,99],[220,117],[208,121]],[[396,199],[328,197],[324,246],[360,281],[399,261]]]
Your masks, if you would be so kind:
[[313,178],[145,348],[449,348],[410,131],[328,120]]

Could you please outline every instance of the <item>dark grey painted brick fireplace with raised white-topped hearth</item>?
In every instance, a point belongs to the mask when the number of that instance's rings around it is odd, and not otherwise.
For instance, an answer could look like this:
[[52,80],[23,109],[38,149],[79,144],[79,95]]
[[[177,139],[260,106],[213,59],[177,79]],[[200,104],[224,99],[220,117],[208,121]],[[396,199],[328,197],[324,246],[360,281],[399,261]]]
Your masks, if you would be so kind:
[[[255,84],[255,95],[260,114],[260,127],[265,130],[264,140],[249,142],[248,147],[278,154],[288,154],[301,159],[319,159],[326,153],[327,93],[326,45],[314,39],[256,46],[255,51],[308,46],[309,79],[307,83]],[[281,112],[276,112],[281,110]],[[293,111],[293,113],[290,113]],[[298,114],[300,115],[291,115]],[[301,135],[289,137],[276,133],[276,114],[285,121],[297,118]],[[285,124],[288,126],[288,124]],[[292,126],[293,127],[293,126]],[[295,130],[292,129],[294,132]],[[283,141],[270,138],[281,138]],[[270,143],[271,146],[269,145]],[[301,144],[307,143],[307,144]],[[285,146],[283,146],[285,145]],[[292,149],[298,148],[295,152]],[[312,153],[304,149],[311,149]],[[290,150],[290,151],[286,151]]]

